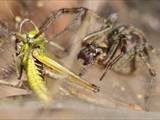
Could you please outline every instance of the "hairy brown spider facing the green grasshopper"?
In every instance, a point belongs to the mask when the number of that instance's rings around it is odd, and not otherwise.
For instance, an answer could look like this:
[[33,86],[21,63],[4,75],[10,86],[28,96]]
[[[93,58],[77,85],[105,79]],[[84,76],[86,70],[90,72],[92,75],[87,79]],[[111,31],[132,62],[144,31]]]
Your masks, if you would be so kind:
[[[152,82],[156,77],[156,72],[150,63],[149,51],[154,48],[148,44],[144,33],[132,25],[119,25],[113,28],[117,19],[116,14],[111,14],[106,20],[105,27],[86,35],[82,39],[82,47],[77,59],[83,60],[84,69],[92,64],[103,66],[104,70],[100,77],[102,80],[107,71],[114,70],[117,64],[129,63],[129,73],[133,73],[136,70],[136,58],[139,57],[147,66],[152,77],[144,97],[145,110],[149,110]],[[83,71],[80,75],[83,75]]]

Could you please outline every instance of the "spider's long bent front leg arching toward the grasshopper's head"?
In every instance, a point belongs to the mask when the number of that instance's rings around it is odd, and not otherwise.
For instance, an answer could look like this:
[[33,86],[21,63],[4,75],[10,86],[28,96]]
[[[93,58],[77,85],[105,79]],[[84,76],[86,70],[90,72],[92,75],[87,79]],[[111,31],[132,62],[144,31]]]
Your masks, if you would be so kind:
[[54,23],[55,20],[58,19],[60,16],[62,16],[64,14],[75,14],[76,16],[71,20],[71,22],[64,29],[62,29],[57,34],[51,36],[51,38],[49,40],[47,40],[49,45],[53,46],[54,48],[56,48],[57,50],[62,52],[63,55],[68,55],[70,53],[70,51],[69,51],[70,46],[63,47],[63,46],[53,42],[53,40],[55,40],[58,37],[60,37],[61,35],[63,35],[63,33],[65,31],[69,31],[70,29],[72,29],[74,24],[76,22],[78,22],[78,20],[82,21],[84,16],[86,15],[87,11],[88,11],[87,8],[78,7],[78,8],[63,8],[63,9],[59,9],[57,11],[51,12],[50,15],[46,18],[46,20],[39,27],[39,33],[35,36],[35,38],[38,37],[41,33],[45,32],[48,29],[48,27],[52,23]]

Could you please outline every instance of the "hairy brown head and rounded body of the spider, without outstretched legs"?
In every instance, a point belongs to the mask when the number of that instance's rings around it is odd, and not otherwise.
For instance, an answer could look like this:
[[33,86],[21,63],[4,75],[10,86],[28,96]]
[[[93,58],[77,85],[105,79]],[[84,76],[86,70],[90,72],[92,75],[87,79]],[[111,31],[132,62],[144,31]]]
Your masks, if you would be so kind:
[[103,44],[105,46],[102,46],[102,42],[97,44],[96,41],[83,43],[78,59],[83,59],[84,65],[98,62],[103,66],[111,67],[124,55],[128,54],[130,59],[134,59],[140,52],[147,54],[148,48],[151,47],[143,33],[131,25],[121,25],[112,30],[107,34]]

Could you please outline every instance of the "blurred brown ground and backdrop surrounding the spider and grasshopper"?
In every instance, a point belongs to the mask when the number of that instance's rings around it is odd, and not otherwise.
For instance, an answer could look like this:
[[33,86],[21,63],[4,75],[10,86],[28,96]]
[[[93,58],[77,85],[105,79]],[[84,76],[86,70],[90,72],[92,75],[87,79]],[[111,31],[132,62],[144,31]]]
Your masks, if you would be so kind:
[[[77,22],[76,25],[71,27],[70,31],[64,32],[60,37],[53,38],[56,33],[63,30],[71,21],[72,16],[64,15],[46,31],[48,39],[62,45],[64,48],[70,48],[70,53],[63,54],[63,52],[54,49],[52,46],[48,46],[47,49],[50,54],[56,55],[64,65],[72,71],[79,73],[82,66],[76,60],[76,55],[81,46],[80,40],[88,33],[103,26],[103,19],[112,13],[118,14],[119,25],[131,24],[141,29],[145,33],[148,42],[156,49],[159,49],[159,6],[159,0],[1,0],[0,21],[4,22],[9,30],[15,31],[15,19],[19,17],[22,19],[29,18],[33,20],[37,26],[40,26],[51,11],[66,7],[86,7],[90,9],[92,12],[89,14],[91,19],[88,23],[82,24],[83,21]],[[8,47],[13,47],[13,44],[1,44],[2,50],[0,54],[2,58],[0,61],[1,66],[6,69],[10,69],[10,66],[6,67],[5,65],[12,63],[11,53],[14,51],[11,50],[11,52],[7,53],[6,48]],[[158,54],[153,54],[152,58],[153,66],[157,74],[159,74],[159,56]],[[17,103],[14,105],[11,103],[7,105],[4,104],[2,105],[3,108],[0,107],[0,116],[5,119],[47,117],[81,119],[81,115],[84,114],[84,118],[97,119],[108,116],[110,119],[159,118],[160,116],[156,112],[160,111],[160,76],[157,75],[149,105],[150,111],[153,113],[143,112],[146,79],[150,79],[150,76],[146,67],[139,60],[137,61],[137,68],[138,70],[133,75],[127,76],[110,71],[103,81],[98,80],[102,72],[101,68],[92,66],[88,69],[83,78],[100,86],[101,91],[96,95],[92,95],[91,93],[85,94],[88,96],[91,95],[96,103],[100,100],[100,102],[105,101],[105,107],[91,104],[94,103],[92,100],[91,103],[81,101],[73,95],[74,97],[60,99],[53,105],[54,107],[48,111],[43,110],[40,104],[34,102],[23,103],[23,105]],[[10,71],[7,71],[7,74],[10,75],[8,78],[13,79]],[[15,72],[13,72],[13,74],[15,74]],[[1,79],[4,79],[4,74]],[[9,88],[4,85],[1,85],[0,89],[2,91],[2,93],[0,93],[1,98],[15,96],[17,93],[18,95],[28,94],[26,91],[15,90],[15,88]],[[134,111],[133,109],[136,108],[135,105],[142,109],[140,111]],[[10,117],[6,113],[9,113]],[[39,116],[40,113],[43,114]]]

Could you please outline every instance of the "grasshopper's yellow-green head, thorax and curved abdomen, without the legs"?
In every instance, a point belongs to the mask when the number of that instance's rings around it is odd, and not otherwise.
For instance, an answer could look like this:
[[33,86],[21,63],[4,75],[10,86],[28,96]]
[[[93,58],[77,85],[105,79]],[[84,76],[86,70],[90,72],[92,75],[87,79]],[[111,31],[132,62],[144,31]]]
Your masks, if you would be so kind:
[[[29,37],[34,37],[36,31],[31,31],[27,33]],[[22,41],[21,47],[21,64],[24,67],[24,70],[27,75],[27,80],[32,91],[43,101],[49,102],[51,101],[51,96],[49,95],[49,91],[46,86],[46,81],[42,78],[41,73],[38,71],[38,67],[36,66],[35,58],[32,56],[32,51],[36,49],[40,49],[41,51],[45,50],[44,46],[44,36],[41,35],[37,39],[34,39],[32,43],[29,43],[27,39],[25,39],[26,35],[17,33],[16,34]]]

